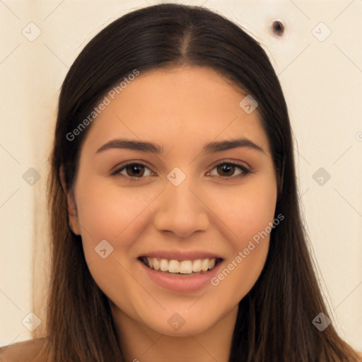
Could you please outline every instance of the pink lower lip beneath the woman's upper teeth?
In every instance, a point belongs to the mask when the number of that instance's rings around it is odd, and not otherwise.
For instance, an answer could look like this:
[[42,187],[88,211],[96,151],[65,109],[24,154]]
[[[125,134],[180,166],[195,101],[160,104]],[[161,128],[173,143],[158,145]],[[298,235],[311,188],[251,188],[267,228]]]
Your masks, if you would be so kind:
[[170,289],[170,291],[177,291],[180,293],[192,293],[194,291],[199,291],[206,286],[210,286],[211,279],[216,276],[221,265],[221,262],[219,262],[213,269],[206,271],[203,274],[194,276],[182,276],[182,274],[180,274],[180,276],[178,276],[167,274],[163,271],[156,271],[155,269],[147,267],[140,260],[139,262],[144,267],[148,277],[156,282],[156,284],[163,286],[163,288]]

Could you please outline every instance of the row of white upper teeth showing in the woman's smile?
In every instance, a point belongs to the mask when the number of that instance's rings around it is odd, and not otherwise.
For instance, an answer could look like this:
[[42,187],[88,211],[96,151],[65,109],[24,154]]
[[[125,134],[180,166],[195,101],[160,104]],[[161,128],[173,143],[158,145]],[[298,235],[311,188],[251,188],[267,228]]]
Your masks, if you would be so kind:
[[[199,271],[213,269],[216,264],[216,258],[194,259],[194,260],[175,260],[158,259],[157,257],[146,258],[148,266],[155,270],[168,271],[170,273],[192,274]],[[146,261],[145,260],[145,261]]]

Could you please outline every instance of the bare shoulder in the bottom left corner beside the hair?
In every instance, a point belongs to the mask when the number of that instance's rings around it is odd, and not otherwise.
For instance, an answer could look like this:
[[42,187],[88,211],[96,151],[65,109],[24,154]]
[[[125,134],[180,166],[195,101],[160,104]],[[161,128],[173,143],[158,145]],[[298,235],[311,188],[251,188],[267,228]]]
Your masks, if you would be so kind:
[[43,362],[46,341],[37,338],[0,347],[0,362]]

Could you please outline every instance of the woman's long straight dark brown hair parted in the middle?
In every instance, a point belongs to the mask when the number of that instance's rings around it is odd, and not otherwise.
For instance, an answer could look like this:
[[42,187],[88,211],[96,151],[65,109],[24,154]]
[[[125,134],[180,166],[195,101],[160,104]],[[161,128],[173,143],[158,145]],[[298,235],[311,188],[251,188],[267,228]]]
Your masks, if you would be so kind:
[[48,361],[124,361],[107,297],[88,271],[81,237],[69,228],[59,177],[63,166],[66,190],[72,192],[91,124],[74,139],[69,134],[134,69],[142,73],[184,64],[214,69],[259,103],[278,175],[275,215],[285,217],[271,231],[259,279],[239,303],[229,361],[360,361],[332,325],[320,332],[312,323],[319,313],[329,313],[300,214],[288,110],[266,52],[240,25],[206,8],[180,4],[140,8],[107,25],[84,47],[62,85],[48,185]]

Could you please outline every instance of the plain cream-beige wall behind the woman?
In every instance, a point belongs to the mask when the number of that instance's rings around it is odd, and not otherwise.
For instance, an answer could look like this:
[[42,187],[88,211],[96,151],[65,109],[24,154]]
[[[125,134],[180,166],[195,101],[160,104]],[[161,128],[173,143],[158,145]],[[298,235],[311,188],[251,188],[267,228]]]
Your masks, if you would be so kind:
[[[157,2],[0,1],[0,346],[44,333],[47,158],[64,76],[107,24]],[[267,49],[288,103],[325,298],[341,336],[362,350],[362,1],[179,2],[220,11]],[[271,34],[276,19],[284,37]],[[324,185],[320,168],[331,175]],[[33,334],[28,313],[41,322]]]

